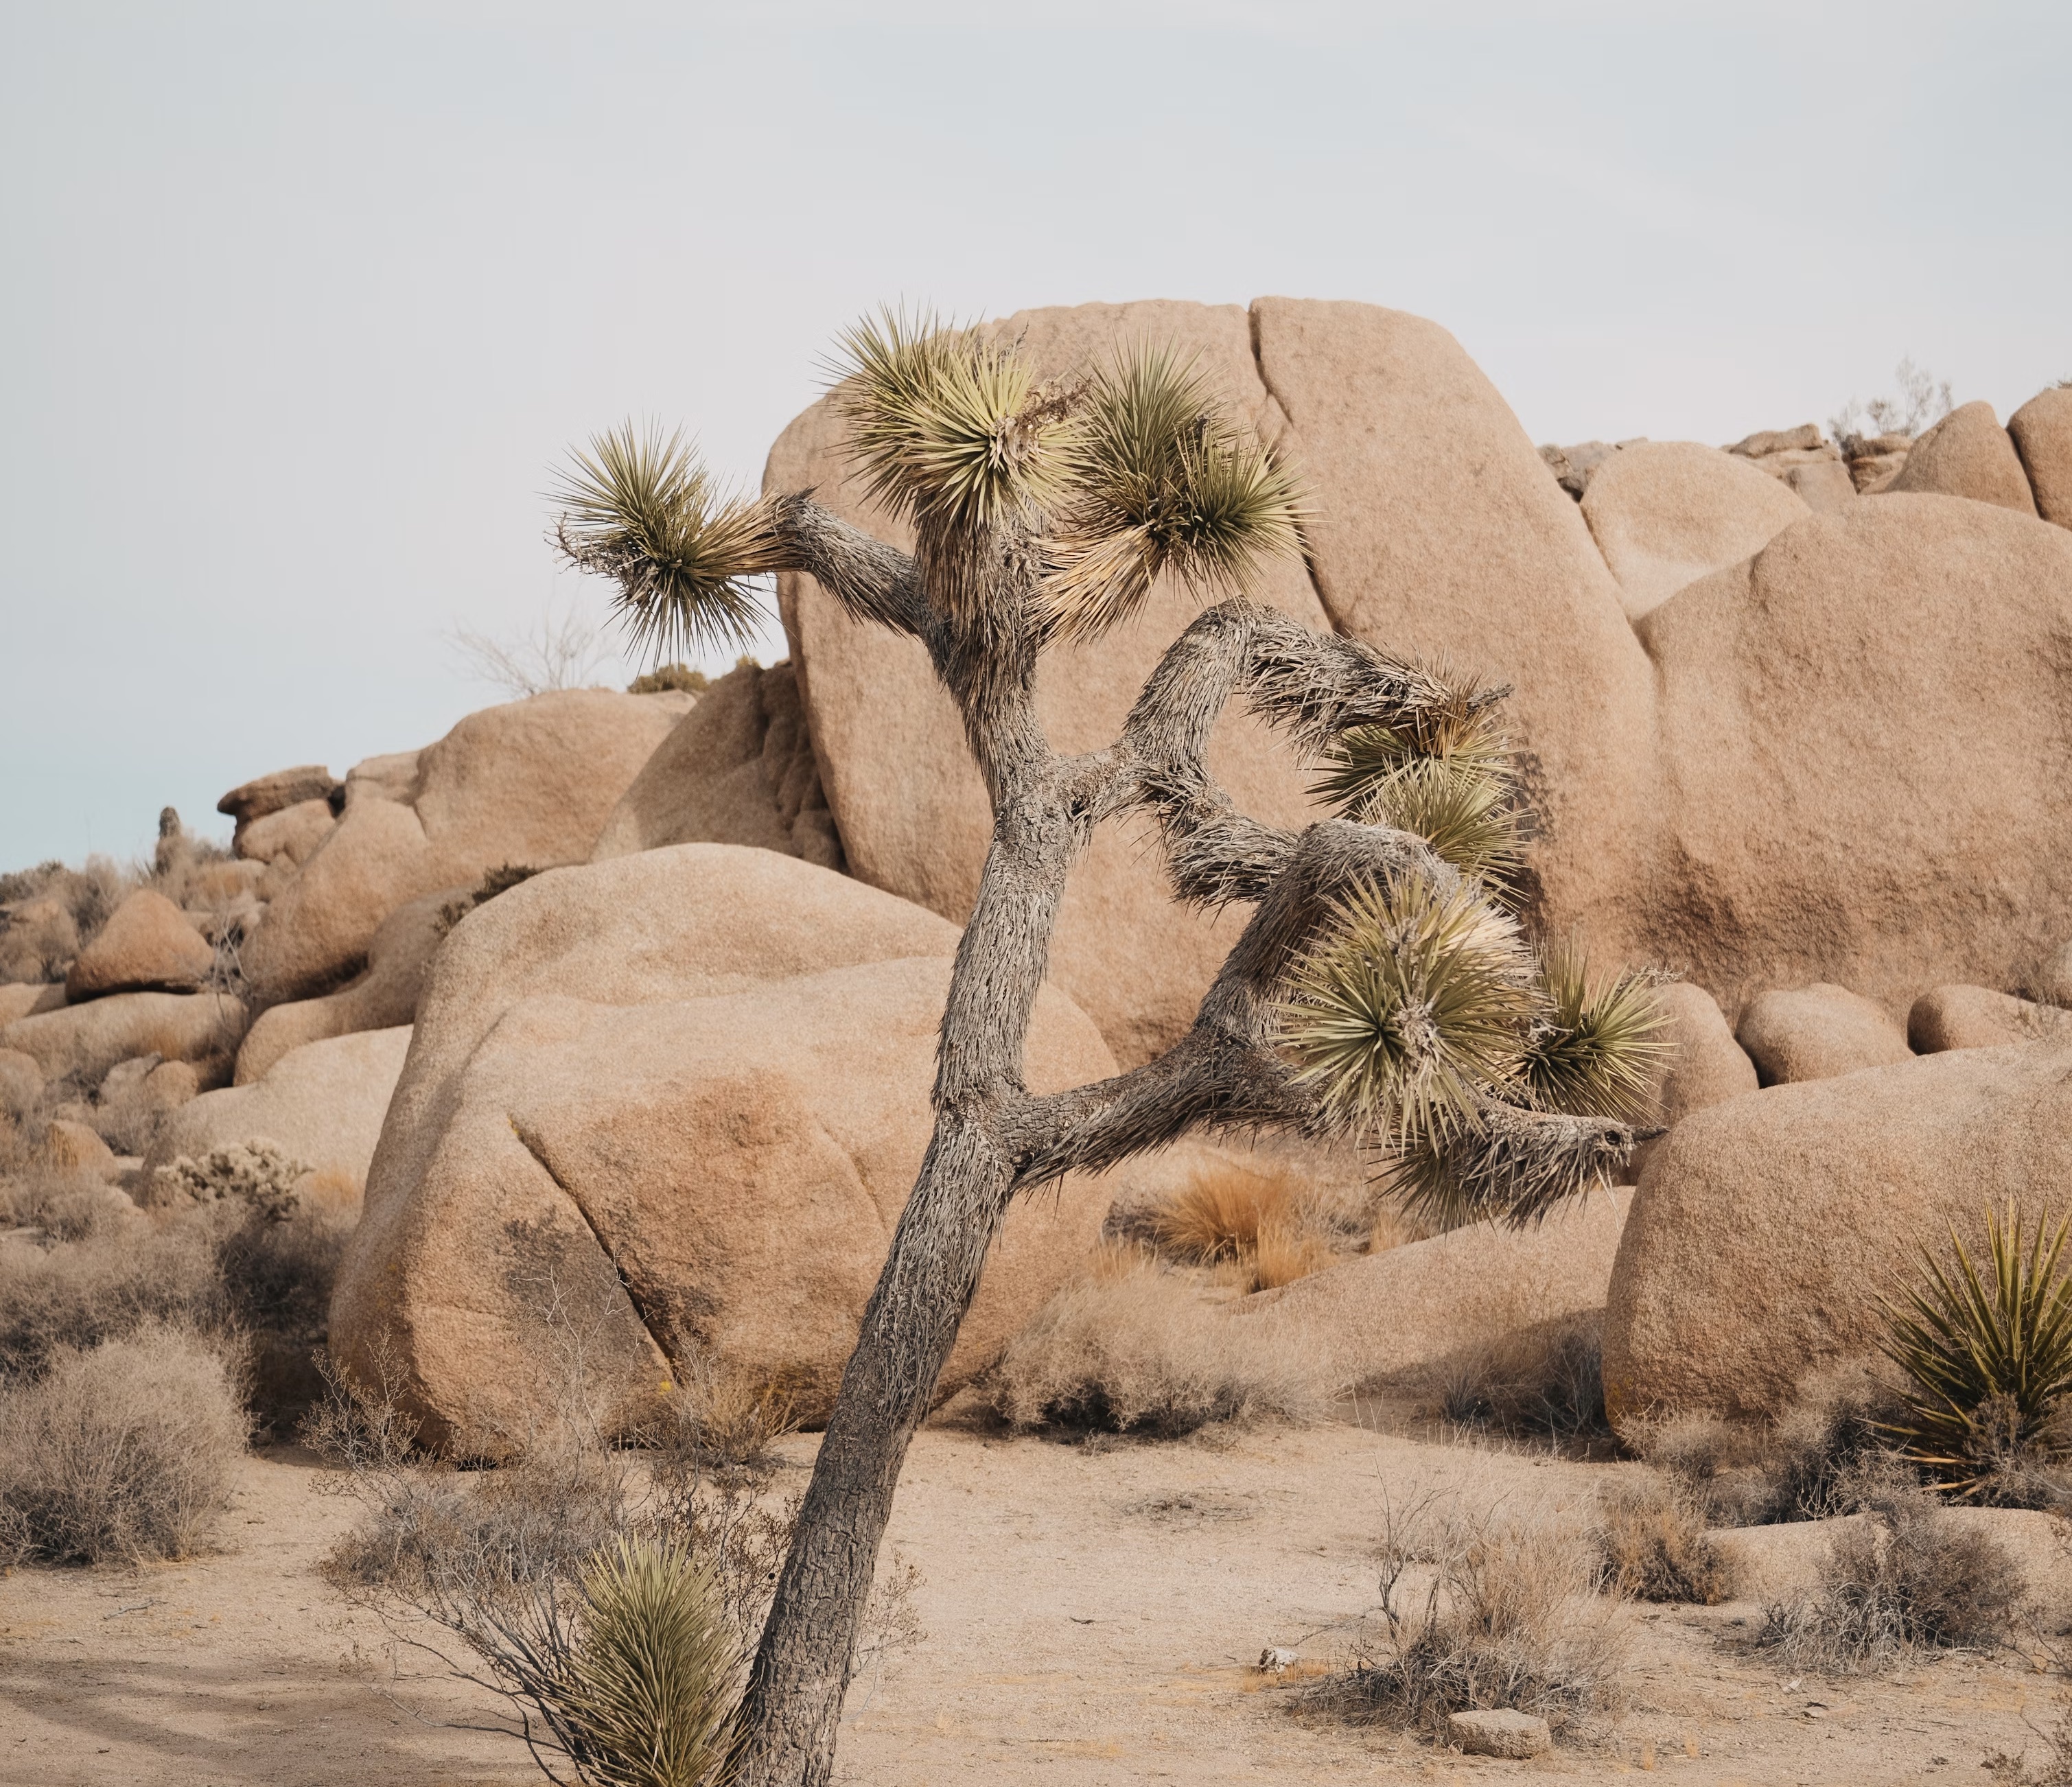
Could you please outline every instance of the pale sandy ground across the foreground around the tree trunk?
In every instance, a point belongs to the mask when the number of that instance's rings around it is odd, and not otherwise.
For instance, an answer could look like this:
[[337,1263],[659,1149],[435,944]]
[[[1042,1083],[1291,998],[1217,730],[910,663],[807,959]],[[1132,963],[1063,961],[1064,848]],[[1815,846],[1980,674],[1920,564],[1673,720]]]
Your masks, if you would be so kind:
[[[1622,1615],[1631,1710],[1529,1764],[1303,1719],[1247,1667],[1266,1644],[1343,1652],[1376,1599],[1384,1495],[1461,1485],[1558,1507],[1602,1470],[1351,1425],[1104,1447],[930,1429],[891,1534],[922,1572],[928,1638],[854,1688],[837,1779],[1985,1781],[1989,1750],[2035,1746],[2024,1721],[2053,1715],[2055,1677],[2020,1657],[1786,1683],[1747,1652],[1747,1605]],[[539,1781],[516,1741],[464,1729],[493,1702],[412,1673],[408,1652],[398,1673],[381,1625],[323,1588],[350,1505],[317,1478],[292,1452],[253,1458],[222,1555],[0,1578],[0,1783]]]

